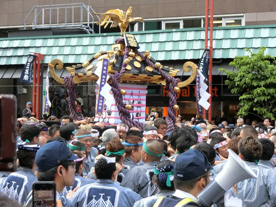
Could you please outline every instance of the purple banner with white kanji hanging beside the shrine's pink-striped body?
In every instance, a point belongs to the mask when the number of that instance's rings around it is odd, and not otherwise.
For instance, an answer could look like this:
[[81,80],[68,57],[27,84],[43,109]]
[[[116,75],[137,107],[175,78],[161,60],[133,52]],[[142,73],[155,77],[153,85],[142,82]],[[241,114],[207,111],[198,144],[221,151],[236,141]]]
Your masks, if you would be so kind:
[[109,64],[109,60],[106,58],[103,58],[102,61],[103,61],[103,65],[101,68],[101,77],[99,77],[100,83],[99,83],[99,92],[98,92],[98,99],[97,99],[97,106],[96,106],[96,114],[98,115],[102,115],[104,110],[104,97],[100,94],[100,92],[106,83],[106,76],[107,76],[108,64]]

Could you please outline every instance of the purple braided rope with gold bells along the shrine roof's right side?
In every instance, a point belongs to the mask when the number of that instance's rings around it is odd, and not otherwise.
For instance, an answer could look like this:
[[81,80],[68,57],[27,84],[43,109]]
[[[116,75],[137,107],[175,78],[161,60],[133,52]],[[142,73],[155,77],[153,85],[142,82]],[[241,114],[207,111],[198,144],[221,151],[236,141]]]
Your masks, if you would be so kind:
[[[169,91],[169,106],[167,108],[168,115],[166,116],[165,120],[168,123],[168,131],[173,130],[173,125],[176,122],[175,114],[174,114],[174,109],[173,106],[177,104],[177,94],[173,90],[176,86],[177,83],[180,82],[179,78],[174,78],[172,76],[168,76],[163,70],[156,68],[154,63],[152,63],[150,60],[147,59],[147,57],[144,56],[143,53],[139,52],[137,49],[134,50],[135,53],[137,53],[143,60],[150,65],[153,69],[155,69],[157,72],[159,72],[163,78],[166,79],[166,89]],[[171,83],[171,84],[170,84]]]

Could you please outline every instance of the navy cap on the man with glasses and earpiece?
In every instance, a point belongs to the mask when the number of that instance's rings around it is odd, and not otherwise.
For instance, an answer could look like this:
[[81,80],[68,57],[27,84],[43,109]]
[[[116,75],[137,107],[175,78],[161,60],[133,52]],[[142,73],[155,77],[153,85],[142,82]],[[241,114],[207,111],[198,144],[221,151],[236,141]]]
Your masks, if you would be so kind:
[[78,156],[71,153],[64,141],[53,141],[43,145],[35,156],[35,164],[38,171],[49,170],[64,161],[78,159]]

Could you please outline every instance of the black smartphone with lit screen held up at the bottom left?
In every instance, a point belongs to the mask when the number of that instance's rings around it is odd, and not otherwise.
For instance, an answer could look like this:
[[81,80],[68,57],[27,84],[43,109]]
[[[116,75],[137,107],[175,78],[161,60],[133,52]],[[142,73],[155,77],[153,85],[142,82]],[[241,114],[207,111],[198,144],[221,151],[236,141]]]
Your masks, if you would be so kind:
[[56,207],[54,182],[35,182],[32,188],[32,206]]

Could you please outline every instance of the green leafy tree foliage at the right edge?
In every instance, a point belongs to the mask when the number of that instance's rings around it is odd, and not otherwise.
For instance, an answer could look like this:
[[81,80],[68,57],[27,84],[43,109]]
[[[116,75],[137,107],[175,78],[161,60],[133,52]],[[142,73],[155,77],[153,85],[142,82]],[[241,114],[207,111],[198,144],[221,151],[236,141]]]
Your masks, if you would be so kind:
[[236,56],[230,66],[237,68],[236,72],[220,68],[227,74],[225,81],[231,93],[241,94],[241,106],[238,116],[246,116],[253,110],[260,118],[276,115],[276,60],[270,55],[264,55],[265,48],[261,47],[258,53],[246,49],[250,56]]

